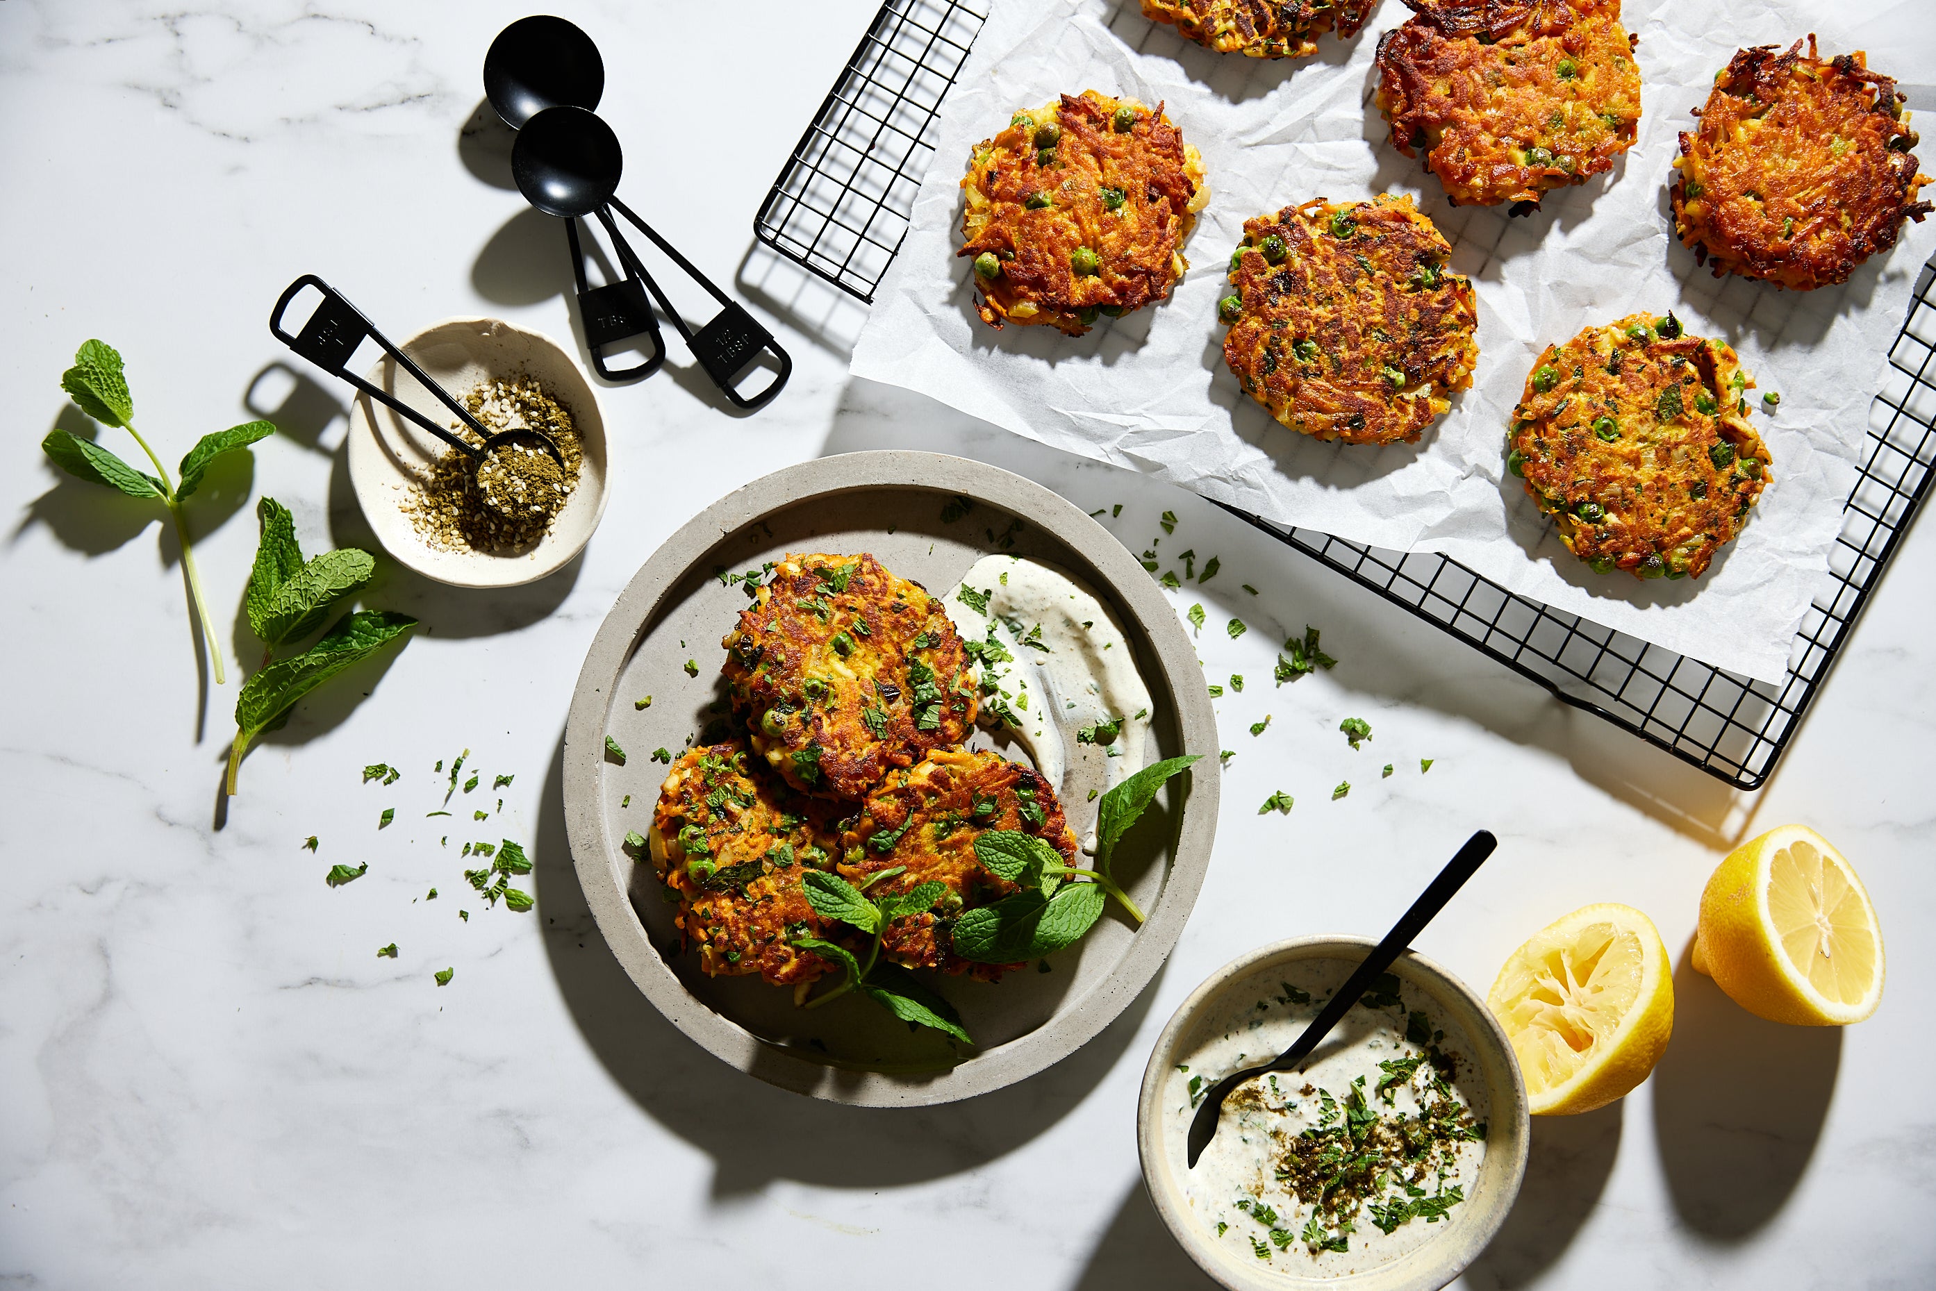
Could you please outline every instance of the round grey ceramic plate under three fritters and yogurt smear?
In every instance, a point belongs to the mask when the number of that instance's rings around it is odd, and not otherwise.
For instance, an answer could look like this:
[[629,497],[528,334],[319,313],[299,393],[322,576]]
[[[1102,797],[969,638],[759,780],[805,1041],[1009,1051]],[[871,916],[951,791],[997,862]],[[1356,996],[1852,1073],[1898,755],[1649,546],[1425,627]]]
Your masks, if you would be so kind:
[[[956,497],[974,507],[956,515]],[[960,1055],[939,1034],[910,1032],[860,997],[802,1010],[790,991],[759,977],[705,977],[697,956],[680,946],[656,875],[649,863],[633,863],[623,840],[627,830],[643,834],[652,819],[666,772],[652,751],[678,755],[695,743],[724,695],[720,637],[747,600],[716,571],[757,569],[786,552],[871,552],[939,596],[997,550],[1053,561],[1115,608],[1156,705],[1152,761],[1206,755],[1171,782],[1117,852],[1115,875],[1148,921],[1133,929],[1105,914],[1088,937],[1049,960],[1049,972],[1013,974],[999,985],[933,977],[978,1041]],[[687,660],[697,676],[685,672]],[[637,708],[645,695],[652,705]],[[606,755],[606,736],[625,749],[623,765]],[[722,497],[639,569],[579,674],[565,726],[565,823],[579,883],[612,952],[697,1043],[740,1070],[815,1097],[947,1103],[1067,1057],[1156,976],[1210,863],[1216,751],[1196,652],[1150,575],[1107,530],[1040,484],[982,463],[852,453],[788,466]],[[1094,765],[1076,766],[1067,782],[1065,805],[1078,834],[1092,825],[1094,803],[1082,786],[1096,772]]]

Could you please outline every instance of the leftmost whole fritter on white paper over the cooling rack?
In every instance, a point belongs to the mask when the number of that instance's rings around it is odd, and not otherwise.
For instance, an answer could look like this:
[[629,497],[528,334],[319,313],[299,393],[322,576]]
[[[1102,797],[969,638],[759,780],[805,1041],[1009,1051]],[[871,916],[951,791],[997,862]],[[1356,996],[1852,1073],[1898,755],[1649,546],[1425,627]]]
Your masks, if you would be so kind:
[[962,178],[962,250],[989,327],[1080,337],[1169,294],[1183,238],[1210,201],[1202,159],[1134,99],[1063,95],[976,145]]

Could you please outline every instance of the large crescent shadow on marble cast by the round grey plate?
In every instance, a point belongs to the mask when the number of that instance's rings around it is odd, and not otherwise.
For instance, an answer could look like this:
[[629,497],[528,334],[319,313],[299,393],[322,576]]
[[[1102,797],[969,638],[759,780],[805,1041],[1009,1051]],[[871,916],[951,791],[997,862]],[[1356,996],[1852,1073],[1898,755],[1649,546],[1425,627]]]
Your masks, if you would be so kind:
[[[846,1107],[726,1066],[674,1028],[606,946],[565,838],[563,741],[552,753],[532,873],[544,950],[585,1043],[645,1115],[712,1157],[712,1198],[774,1179],[894,1186],[972,1171],[1061,1121],[1136,1036],[1160,972],[1096,1039],[1020,1084],[943,1107]],[[856,1150],[862,1146],[862,1150]]]

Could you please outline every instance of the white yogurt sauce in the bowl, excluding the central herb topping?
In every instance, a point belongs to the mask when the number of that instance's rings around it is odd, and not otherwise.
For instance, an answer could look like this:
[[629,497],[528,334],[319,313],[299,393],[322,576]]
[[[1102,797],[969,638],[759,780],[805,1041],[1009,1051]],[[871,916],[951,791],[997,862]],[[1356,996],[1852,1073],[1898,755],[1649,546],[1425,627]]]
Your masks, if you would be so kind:
[[[1390,1233],[1380,1231],[1380,1216],[1394,1219],[1388,1206],[1419,1202],[1419,1194],[1386,1183],[1378,1196],[1369,1198],[1378,1210],[1373,1212],[1367,1204],[1351,1217],[1355,1231],[1342,1233],[1336,1225],[1326,1229],[1324,1237],[1344,1239],[1344,1250],[1313,1252],[1305,1241],[1307,1225],[1318,1212],[1295,1196],[1289,1183],[1280,1179],[1280,1169],[1287,1146],[1299,1142],[1305,1130],[1347,1121],[1355,1080],[1365,1082],[1359,1086],[1363,1107],[1384,1123],[1400,1117],[1415,1123],[1427,1105],[1442,1105],[1448,1097],[1464,1109],[1462,1117],[1469,1113],[1481,1126],[1489,1117],[1485,1088],[1467,1057],[1471,1045],[1466,1034],[1431,997],[1404,983],[1398,991],[1400,1006],[1359,1006],[1347,1012],[1301,1074],[1280,1072],[1237,1088],[1224,1101],[1216,1138],[1196,1169],[1189,1169],[1185,1140],[1200,1101],[1198,1092],[1231,1070],[1255,1066],[1287,1049],[1353,968],[1346,960],[1303,960],[1231,983],[1198,1020],[1189,1043],[1179,1049],[1187,1057],[1164,1084],[1164,1144],[1196,1223],[1231,1256],[1299,1277],[1363,1274],[1458,1225],[1485,1159],[1485,1142],[1469,1138],[1446,1144],[1442,1154],[1431,1157],[1425,1177],[1411,1186],[1421,1190],[1427,1214],[1442,1208],[1438,1219],[1411,1216]],[[1419,1039],[1425,1043],[1417,1043]],[[1454,1057],[1456,1070],[1444,1080],[1446,1088],[1435,1080],[1429,1049]],[[1378,1063],[1417,1055],[1427,1055],[1427,1061],[1380,1094],[1378,1086],[1388,1080],[1388,1072]],[[1386,1096],[1390,1103],[1384,1101]],[[1450,1188],[1460,1188],[1466,1202],[1446,1204]]]

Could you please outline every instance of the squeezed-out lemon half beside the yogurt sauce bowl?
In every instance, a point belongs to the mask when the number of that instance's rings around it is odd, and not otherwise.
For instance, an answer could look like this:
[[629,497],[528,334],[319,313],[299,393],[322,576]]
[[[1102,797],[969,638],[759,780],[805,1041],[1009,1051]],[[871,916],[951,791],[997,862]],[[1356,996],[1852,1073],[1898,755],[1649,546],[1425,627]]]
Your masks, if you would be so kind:
[[1584,906],[1555,919],[1512,952],[1485,1003],[1520,1057],[1535,1117],[1626,1096],[1675,1030],[1667,946],[1632,906]]

